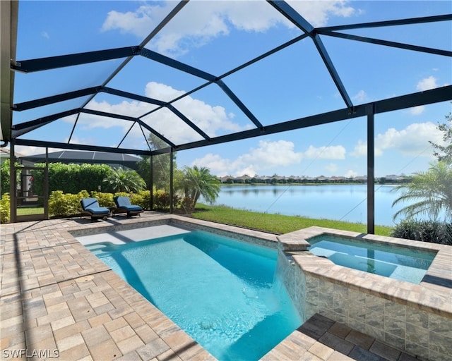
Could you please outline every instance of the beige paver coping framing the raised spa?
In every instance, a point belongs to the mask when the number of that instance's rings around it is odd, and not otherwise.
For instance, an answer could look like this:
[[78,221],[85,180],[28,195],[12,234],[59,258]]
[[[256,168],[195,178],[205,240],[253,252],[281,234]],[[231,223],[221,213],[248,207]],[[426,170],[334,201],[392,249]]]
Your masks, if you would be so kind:
[[[408,247],[435,251],[437,253],[424,276],[424,280],[427,281],[415,284],[348,269],[347,267],[334,264],[325,257],[312,255],[307,251],[309,238],[322,234],[342,235],[347,238],[361,238],[368,241],[375,240],[403,247],[408,245]],[[403,305],[410,305],[420,310],[452,318],[452,246],[450,245],[424,243],[382,235],[364,235],[352,231],[340,231],[317,226],[278,235],[277,238],[284,252],[291,255],[302,271],[307,274],[313,274],[321,279],[328,279],[328,281],[333,283],[377,295]],[[428,281],[435,279],[441,279],[444,281],[442,283],[450,286]]]

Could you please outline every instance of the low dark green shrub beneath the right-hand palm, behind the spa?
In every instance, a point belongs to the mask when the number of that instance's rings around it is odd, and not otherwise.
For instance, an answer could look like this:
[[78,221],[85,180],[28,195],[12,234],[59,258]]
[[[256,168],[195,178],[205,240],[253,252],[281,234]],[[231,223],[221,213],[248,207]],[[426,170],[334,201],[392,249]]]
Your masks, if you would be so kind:
[[391,236],[452,245],[452,224],[439,221],[405,220],[393,228]]

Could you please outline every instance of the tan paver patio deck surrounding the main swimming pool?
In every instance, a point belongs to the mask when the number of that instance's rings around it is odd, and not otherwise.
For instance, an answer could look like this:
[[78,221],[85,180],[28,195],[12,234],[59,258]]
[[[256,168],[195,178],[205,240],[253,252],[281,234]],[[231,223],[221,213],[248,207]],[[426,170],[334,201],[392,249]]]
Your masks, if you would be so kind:
[[[2,224],[2,359],[215,360],[69,233],[168,219],[187,220],[144,212],[135,219]],[[417,359],[314,314],[263,360]]]

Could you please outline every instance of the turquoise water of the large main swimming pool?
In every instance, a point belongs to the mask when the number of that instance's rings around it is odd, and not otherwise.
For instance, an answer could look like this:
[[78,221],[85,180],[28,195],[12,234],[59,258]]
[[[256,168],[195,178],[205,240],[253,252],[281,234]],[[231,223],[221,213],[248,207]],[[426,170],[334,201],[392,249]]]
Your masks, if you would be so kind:
[[86,247],[218,360],[258,360],[302,324],[276,250],[203,231]]

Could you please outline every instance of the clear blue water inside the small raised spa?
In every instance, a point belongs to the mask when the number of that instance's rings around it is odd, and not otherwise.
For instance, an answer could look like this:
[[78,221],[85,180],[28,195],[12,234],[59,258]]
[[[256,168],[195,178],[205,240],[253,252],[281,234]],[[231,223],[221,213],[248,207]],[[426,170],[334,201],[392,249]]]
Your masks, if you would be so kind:
[[335,264],[410,283],[422,281],[436,255],[436,252],[334,235],[319,235],[308,242],[311,253],[327,257]]

